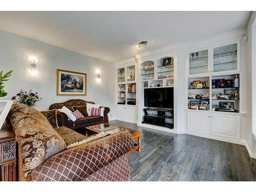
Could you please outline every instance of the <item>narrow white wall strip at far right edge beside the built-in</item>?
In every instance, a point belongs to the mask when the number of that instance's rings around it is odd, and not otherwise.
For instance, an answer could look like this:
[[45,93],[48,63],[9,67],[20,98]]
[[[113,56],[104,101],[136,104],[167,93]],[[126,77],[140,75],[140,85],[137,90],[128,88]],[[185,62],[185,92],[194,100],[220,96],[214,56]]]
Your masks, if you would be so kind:
[[248,41],[246,43],[246,134],[245,139],[248,150],[256,153],[256,141],[253,139],[252,131],[256,134],[256,12],[253,11],[247,26]]

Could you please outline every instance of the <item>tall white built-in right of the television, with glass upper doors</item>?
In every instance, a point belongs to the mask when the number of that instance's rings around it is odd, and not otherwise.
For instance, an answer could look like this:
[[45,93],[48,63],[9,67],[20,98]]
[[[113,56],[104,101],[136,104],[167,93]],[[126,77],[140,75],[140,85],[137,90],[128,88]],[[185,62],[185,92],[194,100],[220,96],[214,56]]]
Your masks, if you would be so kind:
[[[204,49],[193,49],[187,52],[187,133],[218,140],[243,143],[244,123],[246,117],[244,111],[244,89],[243,89],[243,49],[242,37],[239,40],[224,42]],[[216,87],[214,83],[218,79],[234,79],[239,77],[239,87]],[[216,81],[217,79],[217,81]],[[208,86],[201,89],[191,86],[191,83],[201,81]],[[238,90],[239,98],[220,98],[227,90]],[[209,94],[208,98],[201,95]],[[193,98],[194,95],[194,98]],[[196,98],[195,98],[196,95]],[[200,95],[200,97],[198,96]],[[217,97],[216,97],[217,95]],[[191,110],[192,103],[208,102],[207,110]],[[219,110],[221,103],[232,102],[235,112],[223,112]],[[191,108],[191,109],[190,109]]]

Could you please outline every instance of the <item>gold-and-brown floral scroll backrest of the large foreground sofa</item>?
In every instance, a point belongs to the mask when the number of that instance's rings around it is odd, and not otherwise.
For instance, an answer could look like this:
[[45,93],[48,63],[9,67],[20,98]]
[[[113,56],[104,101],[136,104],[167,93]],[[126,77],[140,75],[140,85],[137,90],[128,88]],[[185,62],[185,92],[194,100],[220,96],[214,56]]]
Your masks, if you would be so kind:
[[13,104],[8,114],[21,154],[24,176],[67,146],[47,118],[25,104]]

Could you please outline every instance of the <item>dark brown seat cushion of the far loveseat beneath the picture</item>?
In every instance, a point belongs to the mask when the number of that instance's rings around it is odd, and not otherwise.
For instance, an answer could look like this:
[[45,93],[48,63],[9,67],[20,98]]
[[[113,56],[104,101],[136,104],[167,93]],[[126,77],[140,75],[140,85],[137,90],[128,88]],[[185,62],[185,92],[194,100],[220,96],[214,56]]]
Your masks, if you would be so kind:
[[101,116],[87,116],[80,119],[77,119],[75,122],[68,121],[68,127],[84,127],[94,124],[100,124],[104,122],[104,118]]

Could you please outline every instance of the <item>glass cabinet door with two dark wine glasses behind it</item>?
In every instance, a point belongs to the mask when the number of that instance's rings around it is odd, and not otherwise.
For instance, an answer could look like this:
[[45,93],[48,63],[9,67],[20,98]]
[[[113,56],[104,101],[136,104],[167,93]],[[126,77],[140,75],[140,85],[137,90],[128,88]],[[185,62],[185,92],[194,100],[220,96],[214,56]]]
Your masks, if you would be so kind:
[[189,75],[208,73],[208,50],[189,53]]

